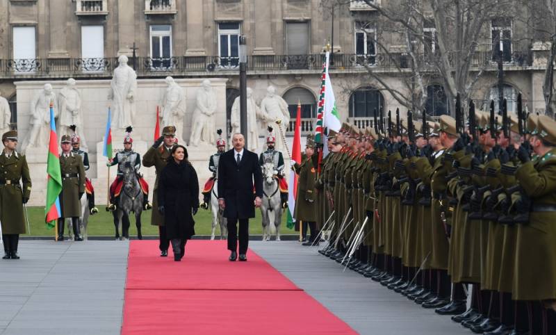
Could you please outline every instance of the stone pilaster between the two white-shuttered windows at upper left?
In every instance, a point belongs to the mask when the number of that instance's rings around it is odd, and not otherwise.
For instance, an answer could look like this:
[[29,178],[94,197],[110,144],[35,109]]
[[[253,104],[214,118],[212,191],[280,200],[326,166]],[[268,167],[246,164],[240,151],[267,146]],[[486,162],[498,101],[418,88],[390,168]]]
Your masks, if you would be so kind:
[[67,1],[66,0],[50,0],[49,15],[49,33],[50,33],[50,49],[49,58],[69,58],[67,53]]

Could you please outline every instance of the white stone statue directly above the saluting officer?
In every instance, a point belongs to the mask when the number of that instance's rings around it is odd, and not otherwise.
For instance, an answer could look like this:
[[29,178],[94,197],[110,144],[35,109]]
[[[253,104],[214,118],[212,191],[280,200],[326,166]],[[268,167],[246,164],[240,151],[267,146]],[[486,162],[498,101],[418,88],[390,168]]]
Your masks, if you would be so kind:
[[176,127],[176,138],[179,143],[183,143],[183,115],[186,115],[186,95],[183,89],[174,81],[171,76],[164,80],[168,85],[162,97],[161,129],[165,126]]

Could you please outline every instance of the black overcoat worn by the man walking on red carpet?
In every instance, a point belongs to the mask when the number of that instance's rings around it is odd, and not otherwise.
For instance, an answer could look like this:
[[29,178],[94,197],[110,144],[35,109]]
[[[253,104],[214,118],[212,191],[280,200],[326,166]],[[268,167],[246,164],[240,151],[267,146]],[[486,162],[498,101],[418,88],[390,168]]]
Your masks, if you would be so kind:
[[[247,149],[238,165],[236,150],[220,156],[218,163],[218,196],[224,198],[225,218],[247,219],[255,217],[255,197],[263,197],[263,176],[259,157]],[[254,189],[253,189],[254,188]]]

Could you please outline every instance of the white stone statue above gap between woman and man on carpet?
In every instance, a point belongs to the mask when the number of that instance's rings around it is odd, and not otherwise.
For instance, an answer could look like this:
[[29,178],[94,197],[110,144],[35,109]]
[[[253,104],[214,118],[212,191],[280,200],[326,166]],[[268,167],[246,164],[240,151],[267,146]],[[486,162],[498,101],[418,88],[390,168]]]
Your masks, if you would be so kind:
[[216,124],[214,112],[216,111],[216,95],[213,92],[211,81],[205,79],[202,88],[197,91],[197,103],[191,121],[191,136],[189,145],[197,147],[199,140],[207,145],[214,145]]

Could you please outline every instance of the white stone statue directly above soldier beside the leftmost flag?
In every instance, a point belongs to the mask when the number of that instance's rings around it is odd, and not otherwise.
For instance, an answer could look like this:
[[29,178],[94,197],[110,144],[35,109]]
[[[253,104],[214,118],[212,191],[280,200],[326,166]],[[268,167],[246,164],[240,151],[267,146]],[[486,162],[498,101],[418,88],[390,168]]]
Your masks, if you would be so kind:
[[83,119],[81,118],[81,96],[75,87],[75,79],[67,79],[65,88],[60,90],[58,94],[58,107],[60,108],[60,117],[58,124],[58,136],[72,135],[73,131],[70,126],[76,126],[75,133],[81,139],[81,148],[87,150],[87,142],[83,135]]

